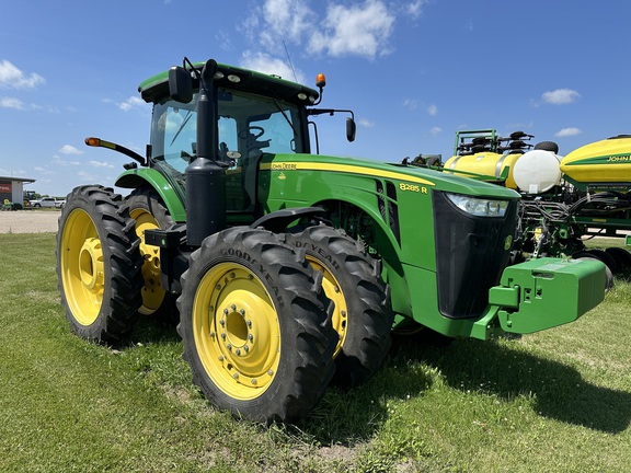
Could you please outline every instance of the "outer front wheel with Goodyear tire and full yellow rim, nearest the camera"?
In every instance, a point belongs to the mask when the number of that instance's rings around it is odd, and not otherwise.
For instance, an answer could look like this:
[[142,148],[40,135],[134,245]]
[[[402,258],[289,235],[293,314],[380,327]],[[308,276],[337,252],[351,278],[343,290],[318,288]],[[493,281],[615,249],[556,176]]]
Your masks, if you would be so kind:
[[268,231],[232,228],[204,240],[181,280],[184,358],[214,405],[269,424],[318,403],[337,334],[303,255]]

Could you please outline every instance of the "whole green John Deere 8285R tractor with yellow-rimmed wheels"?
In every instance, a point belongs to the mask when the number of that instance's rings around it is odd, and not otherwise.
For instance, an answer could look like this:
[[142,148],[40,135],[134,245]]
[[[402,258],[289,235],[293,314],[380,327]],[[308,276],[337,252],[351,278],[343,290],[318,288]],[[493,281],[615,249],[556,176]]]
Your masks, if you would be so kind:
[[[357,387],[392,330],[486,339],[576,320],[604,266],[506,267],[519,195],[404,163],[312,154],[318,91],[218,65],[139,86],[153,104],[146,157],[116,186],[74,188],[57,272],[72,331],[118,344],[139,316],[177,318],[193,381],[234,416],[291,422],[330,382]],[[311,130],[311,132],[310,132]]]

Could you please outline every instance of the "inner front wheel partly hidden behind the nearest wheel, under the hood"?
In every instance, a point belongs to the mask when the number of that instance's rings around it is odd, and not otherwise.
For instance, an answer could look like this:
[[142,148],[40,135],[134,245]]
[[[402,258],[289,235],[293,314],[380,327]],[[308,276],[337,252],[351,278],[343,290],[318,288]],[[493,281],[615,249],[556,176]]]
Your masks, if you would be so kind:
[[363,384],[381,367],[391,345],[393,313],[375,261],[359,242],[324,224],[296,227],[286,239],[322,272],[324,292],[335,303],[333,326],[340,342],[333,382]]

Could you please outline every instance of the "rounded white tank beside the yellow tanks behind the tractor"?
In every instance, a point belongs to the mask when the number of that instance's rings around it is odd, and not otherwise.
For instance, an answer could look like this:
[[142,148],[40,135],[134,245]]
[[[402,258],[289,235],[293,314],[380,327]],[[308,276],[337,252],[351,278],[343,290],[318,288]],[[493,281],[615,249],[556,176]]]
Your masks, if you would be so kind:
[[561,182],[560,163],[552,151],[528,151],[514,164],[513,177],[521,192],[541,194]]

